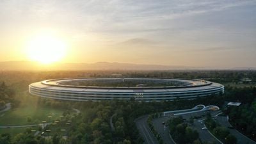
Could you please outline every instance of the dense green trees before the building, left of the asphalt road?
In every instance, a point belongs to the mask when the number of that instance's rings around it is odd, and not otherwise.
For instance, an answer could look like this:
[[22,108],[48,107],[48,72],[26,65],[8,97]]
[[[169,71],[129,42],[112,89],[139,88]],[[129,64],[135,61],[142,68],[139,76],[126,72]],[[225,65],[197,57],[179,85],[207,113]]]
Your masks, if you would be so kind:
[[[87,143],[95,144],[143,143],[134,123],[136,118],[150,113],[193,108],[196,104],[202,103],[221,105],[221,97],[219,99],[214,96],[197,100],[178,99],[172,102],[138,102],[133,99],[130,101],[75,102],[73,106],[84,112],[79,115],[81,117],[76,118],[76,126],[74,125],[70,131],[68,140],[74,144],[85,143],[84,140],[87,140]],[[114,131],[109,124],[111,116],[113,116]],[[77,129],[78,127],[79,129]],[[94,134],[97,134],[97,137],[93,137]],[[84,136],[87,136],[87,139]]]

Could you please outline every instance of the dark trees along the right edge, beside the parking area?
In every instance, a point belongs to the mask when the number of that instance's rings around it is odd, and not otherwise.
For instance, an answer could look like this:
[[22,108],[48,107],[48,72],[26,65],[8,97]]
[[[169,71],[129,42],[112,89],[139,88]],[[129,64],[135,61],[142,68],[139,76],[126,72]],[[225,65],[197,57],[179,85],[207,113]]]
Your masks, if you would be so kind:
[[225,99],[241,102],[241,106],[225,109],[230,123],[240,132],[256,141],[256,88],[226,88]]

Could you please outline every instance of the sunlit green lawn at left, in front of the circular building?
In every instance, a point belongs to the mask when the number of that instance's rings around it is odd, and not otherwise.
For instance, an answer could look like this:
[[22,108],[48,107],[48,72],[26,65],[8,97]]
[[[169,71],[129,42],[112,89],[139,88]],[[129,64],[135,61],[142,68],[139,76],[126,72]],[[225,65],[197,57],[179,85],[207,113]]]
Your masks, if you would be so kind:
[[[49,122],[56,118],[60,118],[63,111],[65,110],[45,107],[37,108],[36,106],[22,106],[16,109],[10,109],[10,111],[4,113],[4,115],[0,117],[0,125],[27,125],[39,124],[42,121]],[[51,118],[48,116],[51,116]],[[31,118],[31,122],[28,122],[28,117]]]

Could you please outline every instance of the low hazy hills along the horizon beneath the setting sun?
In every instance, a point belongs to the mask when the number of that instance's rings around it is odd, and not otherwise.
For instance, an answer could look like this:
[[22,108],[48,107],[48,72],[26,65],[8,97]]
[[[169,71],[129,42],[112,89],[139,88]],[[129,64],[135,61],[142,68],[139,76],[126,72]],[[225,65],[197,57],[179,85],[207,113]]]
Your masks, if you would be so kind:
[[[198,67],[197,67],[198,68]],[[196,67],[143,65],[134,63],[54,63],[42,65],[34,61],[2,61],[0,70],[188,70]]]

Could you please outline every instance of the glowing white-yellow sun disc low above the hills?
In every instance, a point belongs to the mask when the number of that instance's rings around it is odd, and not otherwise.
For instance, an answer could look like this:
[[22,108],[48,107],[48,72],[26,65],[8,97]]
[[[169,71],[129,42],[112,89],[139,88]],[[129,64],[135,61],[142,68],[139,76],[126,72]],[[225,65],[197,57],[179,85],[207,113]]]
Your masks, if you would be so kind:
[[30,60],[40,63],[60,61],[66,54],[67,45],[52,35],[35,36],[29,41],[27,54]]

